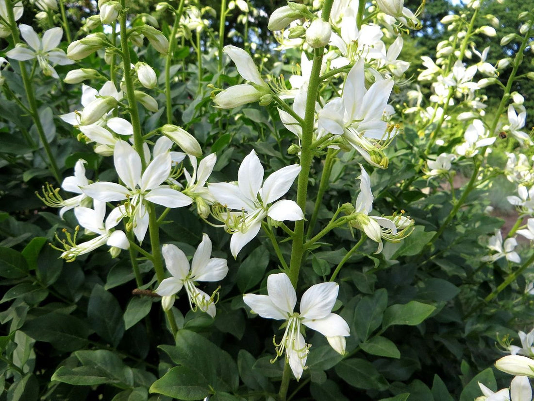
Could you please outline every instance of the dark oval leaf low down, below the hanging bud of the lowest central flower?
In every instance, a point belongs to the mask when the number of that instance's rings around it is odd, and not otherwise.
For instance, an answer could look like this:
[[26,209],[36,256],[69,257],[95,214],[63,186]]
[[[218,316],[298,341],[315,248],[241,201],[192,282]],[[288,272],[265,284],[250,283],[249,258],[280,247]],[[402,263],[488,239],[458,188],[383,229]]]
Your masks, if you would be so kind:
[[386,379],[364,359],[345,359],[336,365],[335,372],[352,387],[380,391],[388,388]]

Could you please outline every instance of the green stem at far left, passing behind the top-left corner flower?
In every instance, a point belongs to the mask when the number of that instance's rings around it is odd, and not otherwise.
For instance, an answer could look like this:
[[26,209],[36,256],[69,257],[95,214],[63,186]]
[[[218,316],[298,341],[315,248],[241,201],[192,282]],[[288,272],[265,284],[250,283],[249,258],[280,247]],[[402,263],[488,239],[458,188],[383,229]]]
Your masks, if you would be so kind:
[[[5,6],[7,9],[7,15],[9,17],[9,22],[11,26],[11,35],[13,37],[13,44],[16,45],[17,43],[19,43],[19,29],[17,28],[17,22],[15,22],[15,16],[13,12],[13,2],[11,0],[5,0]],[[61,182],[61,174],[59,174],[59,168],[56,164],[56,159],[54,159],[52,150],[50,149],[50,144],[46,140],[46,135],[44,133],[43,125],[41,124],[39,111],[37,109],[37,102],[34,96],[34,89],[32,87],[32,81],[28,77],[28,72],[26,71],[26,67],[23,61],[19,61],[19,67],[20,67],[20,75],[22,76],[22,81],[24,83],[24,90],[26,92],[26,98],[28,99],[29,109],[31,111],[30,115],[32,115],[35,128],[37,128],[37,134],[39,135],[39,139],[41,140],[41,143],[43,144],[46,157],[48,157],[48,161],[50,164],[50,169],[52,170],[52,174],[54,178],[56,179],[56,181],[59,183]]]

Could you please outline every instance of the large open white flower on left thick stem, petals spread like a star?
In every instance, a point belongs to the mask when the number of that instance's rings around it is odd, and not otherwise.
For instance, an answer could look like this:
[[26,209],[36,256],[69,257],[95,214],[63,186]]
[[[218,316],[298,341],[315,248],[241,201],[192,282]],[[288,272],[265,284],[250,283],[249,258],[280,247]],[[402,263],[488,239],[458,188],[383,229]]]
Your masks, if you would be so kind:
[[103,202],[128,199],[127,214],[132,218],[133,233],[139,242],[145,238],[148,228],[148,213],[145,201],[166,207],[190,205],[192,199],[168,185],[162,185],[171,171],[170,153],[164,152],[141,172],[141,158],[127,142],[117,141],[113,151],[115,169],[124,186],[114,182],[100,181],[83,187],[84,194]]

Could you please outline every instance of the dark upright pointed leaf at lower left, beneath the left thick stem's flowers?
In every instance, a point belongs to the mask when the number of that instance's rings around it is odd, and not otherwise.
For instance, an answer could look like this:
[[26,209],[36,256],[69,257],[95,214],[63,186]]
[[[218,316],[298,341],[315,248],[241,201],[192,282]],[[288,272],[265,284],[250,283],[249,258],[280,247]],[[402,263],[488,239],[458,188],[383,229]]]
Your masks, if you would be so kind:
[[116,347],[124,335],[122,310],[115,297],[96,284],[91,291],[87,316],[92,328],[104,340]]

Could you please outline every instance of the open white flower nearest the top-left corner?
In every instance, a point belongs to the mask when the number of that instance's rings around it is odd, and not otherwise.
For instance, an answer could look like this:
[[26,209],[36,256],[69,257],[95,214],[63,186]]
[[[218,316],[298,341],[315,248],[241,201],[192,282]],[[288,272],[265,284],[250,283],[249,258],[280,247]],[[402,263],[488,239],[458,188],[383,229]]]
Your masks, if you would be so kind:
[[50,63],[59,65],[74,64],[74,61],[69,60],[63,50],[57,48],[63,36],[63,29],[56,27],[46,30],[42,40],[29,25],[20,24],[19,29],[22,38],[30,48],[21,44],[17,45],[17,47],[6,53],[7,57],[19,61],[36,58],[41,70],[43,70],[43,74],[53,78],[59,78],[59,75]]

